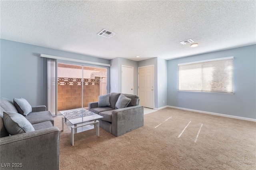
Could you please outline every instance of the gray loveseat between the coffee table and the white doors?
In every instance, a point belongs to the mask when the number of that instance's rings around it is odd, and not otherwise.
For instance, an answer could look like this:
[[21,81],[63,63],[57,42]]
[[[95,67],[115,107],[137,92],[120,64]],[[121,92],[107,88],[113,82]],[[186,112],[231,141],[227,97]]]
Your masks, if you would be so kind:
[[144,107],[139,105],[140,99],[136,95],[123,94],[130,103],[127,107],[116,109],[116,103],[121,93],[110,93],[110,106],[98,107],[98,102],[88,104],[88,110],[103,116],[99,119],[100,127],[114,136],[120,136],[136,128],[144,126]]

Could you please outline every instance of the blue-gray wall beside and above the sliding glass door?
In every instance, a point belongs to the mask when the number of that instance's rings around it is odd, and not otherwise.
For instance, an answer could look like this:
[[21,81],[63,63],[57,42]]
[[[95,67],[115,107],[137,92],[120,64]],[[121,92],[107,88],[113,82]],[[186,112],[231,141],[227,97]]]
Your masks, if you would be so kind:
[[30,105],[43,104],[43,59],[40,54],[56,55],[110,64],[110,60],[0,40],[0,96],[12,100],[22,97]]

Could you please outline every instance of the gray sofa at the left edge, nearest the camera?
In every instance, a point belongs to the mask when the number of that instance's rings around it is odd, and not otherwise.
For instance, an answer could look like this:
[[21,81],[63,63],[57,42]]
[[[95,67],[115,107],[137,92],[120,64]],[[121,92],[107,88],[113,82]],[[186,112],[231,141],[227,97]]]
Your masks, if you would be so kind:
[[1,170],[58,170],[60,130],[53,127],[54,119],[46,107],[32,107],[32,112],[25,116],[34,131],[10,135],[4,125],[3,114],[18,111],[8,99],[1,98],[0,105]]

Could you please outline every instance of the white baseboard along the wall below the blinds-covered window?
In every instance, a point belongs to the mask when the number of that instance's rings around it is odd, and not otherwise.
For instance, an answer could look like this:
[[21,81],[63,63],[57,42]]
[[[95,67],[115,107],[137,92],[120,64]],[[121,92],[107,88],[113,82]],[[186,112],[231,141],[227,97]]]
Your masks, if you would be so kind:
[[[209,114],[209,115],[216,115],[216,116],[222,116],[222,117],[229,117],[229,118],[233,118],[233,119],[241,119],[241,120],[245,120],[245,121],[253,121],[253,122],[256,122],[256,119],[251,119],[251,118],[246,118],[246,117],[225,115],[225,114],[213,113],[213,112],[206,112],[206,111],[198,111],[198,110],[194,110],[194,109],[186,109],[186,108],[175,107],[175,106],[166,106],[166,107],[170,107],[170,108],[174,108],[174,109],[180,109],[180,110],[185,110],[185,111],[198,112],[198,113],[206,113],[206,114]],[[161,108],[156,108],[156,109],[157,109],[157,110],[160,110],[160,109],[164,109],[164,108],[166,108],[166,107],[161,107]]]

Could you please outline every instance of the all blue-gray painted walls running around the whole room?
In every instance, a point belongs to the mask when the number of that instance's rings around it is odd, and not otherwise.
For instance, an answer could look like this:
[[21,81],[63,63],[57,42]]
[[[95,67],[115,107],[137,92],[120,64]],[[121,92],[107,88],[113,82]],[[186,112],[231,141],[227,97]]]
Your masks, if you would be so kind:
[[[0,97],[23,97],[31,105],[43,104],[43,59],[39,57],[43,53],[111,64],[110,92],[121,91],[121,65],[134,67],[134,89],[138,87],[138,67],[154,65],[155,108],[169,105],[256,119],[256,45],[168,61],[155,57],[138,62],[119,57],[101,59],[2,39],[0,49]],[[178,92],[178,63],[229,56],[234,56],[234,95]]]

